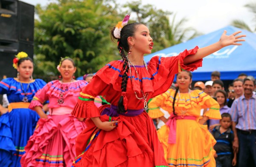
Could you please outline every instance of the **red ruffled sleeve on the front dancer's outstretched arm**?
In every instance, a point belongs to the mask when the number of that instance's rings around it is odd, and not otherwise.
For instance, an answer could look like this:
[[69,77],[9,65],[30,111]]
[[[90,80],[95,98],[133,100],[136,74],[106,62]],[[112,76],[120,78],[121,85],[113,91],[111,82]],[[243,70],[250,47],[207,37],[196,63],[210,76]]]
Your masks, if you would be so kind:
[[177,56],[161,58],[154,56],[148,63],[149,72],[153,76],[154,96],[160,95],[172,85],[175,74],[181,71],[194,71],[202,66],[202,60],[197,60],[193,63],[184,64],[183,60],[188,55],[194,55],[198,50],[198,46],[191,50],[185,50]]

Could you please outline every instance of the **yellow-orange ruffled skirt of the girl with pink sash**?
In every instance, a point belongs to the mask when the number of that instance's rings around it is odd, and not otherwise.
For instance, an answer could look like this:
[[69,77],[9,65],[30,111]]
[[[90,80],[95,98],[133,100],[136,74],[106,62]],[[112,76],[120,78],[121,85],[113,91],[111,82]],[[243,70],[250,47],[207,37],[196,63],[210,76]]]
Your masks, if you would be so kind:
[[165,158],[170,167],[215,167],[216,143],[207,125],[194,120],[177,120],[176,144],[169,144],[169,127],[164,125],[158,131],[163,144]]

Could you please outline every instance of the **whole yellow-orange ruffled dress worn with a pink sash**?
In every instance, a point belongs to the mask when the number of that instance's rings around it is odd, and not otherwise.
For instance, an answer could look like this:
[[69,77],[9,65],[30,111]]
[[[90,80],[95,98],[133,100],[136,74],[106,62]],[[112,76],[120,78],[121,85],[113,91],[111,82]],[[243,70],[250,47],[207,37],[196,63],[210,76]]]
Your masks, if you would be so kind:
[[[173,116],[172,103],[175,95],[174,89],[169,89],[162,95],[153,98],[148,104],[148,115],[151,118],[163,116],[160,107]],[[180,119],[176,120],[176,143],[171,144],[169,138],[172,135],[167,125],[169,121],[158,131],[158,137],[163,144],[165,158],[170,167],[215,167],[213,146],[216,143],[207,125],[198,123],[200,110],[209,108],[204,116],[210,119],[221,119],[219,104],[201,90],[189,93],[177,94],[175,100],[175,114]],[[195,120],[186,119],[194,117]],[[175,134],[174,134],[175,136]]]

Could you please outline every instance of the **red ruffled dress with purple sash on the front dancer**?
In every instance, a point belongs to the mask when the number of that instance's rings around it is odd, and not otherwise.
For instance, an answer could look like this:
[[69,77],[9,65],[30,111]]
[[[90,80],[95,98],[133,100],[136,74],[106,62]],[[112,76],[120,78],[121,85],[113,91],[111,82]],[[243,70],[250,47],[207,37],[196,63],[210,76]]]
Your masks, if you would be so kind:
[[[116,106],[121,96],[123,63],[121,60],[112,61],[100,69],[80,93],[71,114],[78,118],[118,120],[119,123],[116,128],[106,132],[96,128],[93,121],[87,119],[87,128],[76,138],[77,157],[73,167],[168,167],[153,121],[144,111],[144,103],[136,98],[134,91],[138,97],[142,97],[141,89],[148,93],[147,101],[166,92],[177,72],[193,71],[202,65],[202,60],[186,66],[183,64],[183,59],[195,54],[197,49],[185,50],[169,58],[155,56],[148,62],[148,70],[144,66],[136,66],[140,83],[131,66],[132,76],[128,75],[125,95],[128,99],[128,112],[122,115],[116,112]],[[97,108],[93,103],[97,95],[105,95],[111,105]]]

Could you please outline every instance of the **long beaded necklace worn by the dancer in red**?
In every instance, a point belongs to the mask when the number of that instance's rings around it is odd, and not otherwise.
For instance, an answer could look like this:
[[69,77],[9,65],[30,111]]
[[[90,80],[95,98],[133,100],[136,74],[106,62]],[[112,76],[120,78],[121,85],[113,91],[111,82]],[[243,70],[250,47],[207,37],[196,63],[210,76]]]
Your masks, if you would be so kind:
[[[132,75],[131,75],[131,65],[132,65],[132,66],[134,67],[134,69],[135,69],[135,72],[136,72],[136,74],[137,74],[137,80],[138,80],[138,82],[139,82],[139,84],[140,84],[140,77],[139,77],[139,73],[137,72],[136,67],[133,65],[133,63],[131,63],[131,61],[129,60],[128,57],[127,57],[127,59],[128,59],[128,66],[129,66],[130,76],[132,76]],[[146,63],[144,60],[143,60],[143,63],[144,63],[145,68],[148,70],[147,63]],[[130,65],[130,64],[131,64],[131,65]],[[132,82],[132,77],[130,77],[130,78],[131,78],[131,82]],[[144,94],[144,92],[143,92],[142,89],[140,89],[140,91],[142,92],[143,97],[142,97],[142,98],[139,98],[139,97],[137,96],[137,93],[134,91],[135,96],[136,96],[137,99],[143,101],[144,108],[148,108],[148,104],[147,104],[148,93],[145,93],[145,94]]]

